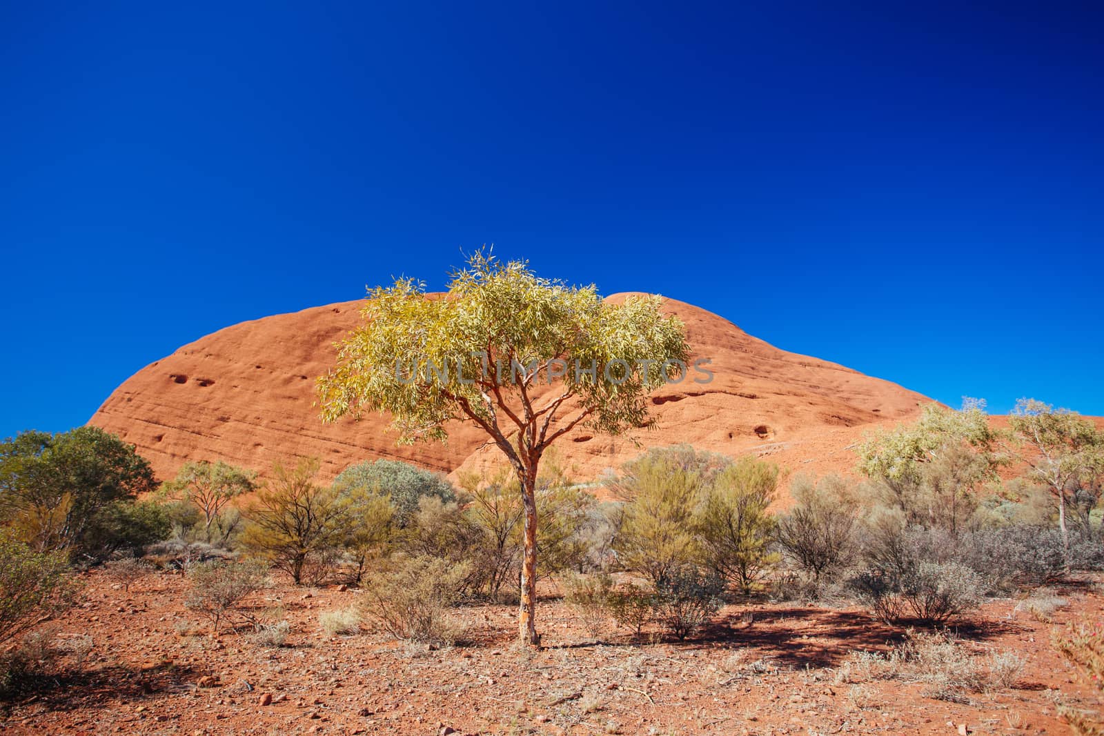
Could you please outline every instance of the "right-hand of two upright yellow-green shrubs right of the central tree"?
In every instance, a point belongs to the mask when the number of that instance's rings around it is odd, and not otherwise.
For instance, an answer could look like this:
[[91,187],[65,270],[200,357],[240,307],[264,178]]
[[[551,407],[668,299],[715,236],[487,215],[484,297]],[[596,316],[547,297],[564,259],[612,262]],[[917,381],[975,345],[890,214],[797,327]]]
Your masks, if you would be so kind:
[[775,561],[769,550],[775,519],[767,509],[777,484],[777,466],[740,458],[718,473],[697,514],[705,564],[744,594]]

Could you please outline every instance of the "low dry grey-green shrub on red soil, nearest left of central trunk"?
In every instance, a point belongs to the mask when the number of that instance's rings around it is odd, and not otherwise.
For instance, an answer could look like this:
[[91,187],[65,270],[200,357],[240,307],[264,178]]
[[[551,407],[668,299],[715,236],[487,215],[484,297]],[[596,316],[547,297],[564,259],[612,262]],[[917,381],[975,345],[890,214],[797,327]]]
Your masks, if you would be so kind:
[[396,639],[450,643],[456,631],[445,611],[469,575],[467,563],[399,554],[365,576],[362,610]]

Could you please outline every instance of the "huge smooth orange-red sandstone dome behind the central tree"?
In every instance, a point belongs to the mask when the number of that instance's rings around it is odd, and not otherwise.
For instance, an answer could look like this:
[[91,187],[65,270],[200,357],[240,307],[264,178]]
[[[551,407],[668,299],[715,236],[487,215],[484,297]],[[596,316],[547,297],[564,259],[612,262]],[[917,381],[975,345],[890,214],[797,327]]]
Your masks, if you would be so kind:
[[[359,323],[361,303],[276,314],[206,335],[127,380],[89,424],[134,442],[160,478],[202,459],[264,471],[277,460],[317,456],[329,478],[376,458],[444,472],[497,463],[493,449],[484,447],[486,437],[461,424],[448,427],[447,444],[403,447],[385,431],[388,417],[322,424],[314,405],[315,377],[332,365],[333,343]],[[913,418],[931,401],[842,365],[778,350],[691,305],[668,299],[665,308],[686,323],[694,356],[711,359],[712,382],[697,384],[691,376],[655,392],[655,426],[633,437],[592,437],[576,427],[558,444],[573,477],[595,478],[641,447],[678,442],[769,456],[793,470],[847,472],[854,463],[850,446],[864,429]]]

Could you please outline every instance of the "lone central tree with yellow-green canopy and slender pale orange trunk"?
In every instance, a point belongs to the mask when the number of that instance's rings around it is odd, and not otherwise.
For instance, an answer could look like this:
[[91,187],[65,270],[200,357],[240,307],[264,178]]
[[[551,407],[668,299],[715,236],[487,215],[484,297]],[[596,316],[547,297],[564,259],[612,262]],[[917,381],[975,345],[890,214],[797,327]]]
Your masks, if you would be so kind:
[[[362,313],[337,366],[319,378],[323,418],[389,412],[406,442],[443,440],[450,420],[488,435],[521,487],[519,633],[538,643],[541,457],[576,426],[612,435],[643,426],[665,361],[688,358],[681,322],[662,314],[659,297],[612,305],[593,285],[569,287],[482,253],[453,275],[446,296],[428,298],[424,284],[399,279],[371,290]],[[680,374],[679,364],[667,369]]]

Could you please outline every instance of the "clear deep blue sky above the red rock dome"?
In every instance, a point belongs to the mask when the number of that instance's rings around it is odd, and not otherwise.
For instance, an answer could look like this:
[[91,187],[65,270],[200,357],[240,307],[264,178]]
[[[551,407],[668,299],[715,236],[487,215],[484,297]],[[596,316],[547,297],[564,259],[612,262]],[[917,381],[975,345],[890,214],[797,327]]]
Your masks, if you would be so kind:
[[0,6],[0,437],[482,243],[1104,414],[1098,3],[325,4]]

